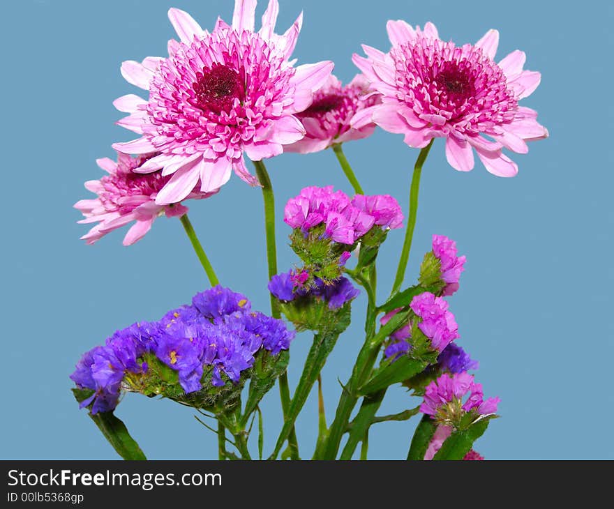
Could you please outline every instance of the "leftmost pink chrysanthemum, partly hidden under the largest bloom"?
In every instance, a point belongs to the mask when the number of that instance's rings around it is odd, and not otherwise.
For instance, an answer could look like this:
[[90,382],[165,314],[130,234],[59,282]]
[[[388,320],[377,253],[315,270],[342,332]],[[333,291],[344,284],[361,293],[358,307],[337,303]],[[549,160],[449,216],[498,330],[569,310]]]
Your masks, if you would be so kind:
[[[164,214],[167,218],[172,218],[184,215],[188,211],[188,208],[181,204],[156,204],[158,192],[170,180],[170,176],[162,176],[160,172],[146,175],[133,172],[147,160],[149,155],[133,158],[118,153],[117,162],[109,158],[96,161],[108,175],[98,181],[87,181],[85,188],[96,193],[98,197],[82,199],[75,204],[75,208],[85,216],[85,219],[79,221],[80,223],[98,223],[81,237],[88,244],[93,244],[110,231],[135,221],[123,238],[123,245],[130,245],[147,234],[153,220],[158,216]],[[215,192],[217,191],[191,192],[186,198],[207,198]]]

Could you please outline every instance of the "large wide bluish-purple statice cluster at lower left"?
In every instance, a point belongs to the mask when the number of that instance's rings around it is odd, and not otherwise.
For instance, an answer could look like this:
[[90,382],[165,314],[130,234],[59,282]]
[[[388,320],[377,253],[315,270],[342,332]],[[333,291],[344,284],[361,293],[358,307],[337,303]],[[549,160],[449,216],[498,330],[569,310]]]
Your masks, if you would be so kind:
[[195,295],[191,305],[167,312],[159,321],[118,331],[104,347],[84,354],[70,375],[77,387],[94,391],[81,407],[93,402],[92,413],[114,409],[125,377],[147,373],[145,354],[177,371],[186,394],[203,388],[205,366],[212,368],[211,386],[225,385],[223,374],[233,383],[239,382],[241,372],[253,365],[258,351],[264,349],[275,356],[290,348],[295,334],[283,321],[250,307],[244,295],[218,285]]

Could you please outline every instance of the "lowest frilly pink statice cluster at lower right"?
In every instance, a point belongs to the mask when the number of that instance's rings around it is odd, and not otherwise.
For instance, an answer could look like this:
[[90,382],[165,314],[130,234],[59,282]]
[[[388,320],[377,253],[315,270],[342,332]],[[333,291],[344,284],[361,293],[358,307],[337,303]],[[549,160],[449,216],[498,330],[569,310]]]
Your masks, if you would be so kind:
[[420,411],[440,425],[456,426],[465,413],[476,417],[495,413],[499,402],[498,397],[484,400],[481,383],[476,383],[472,374],[444,373],[426,386]]

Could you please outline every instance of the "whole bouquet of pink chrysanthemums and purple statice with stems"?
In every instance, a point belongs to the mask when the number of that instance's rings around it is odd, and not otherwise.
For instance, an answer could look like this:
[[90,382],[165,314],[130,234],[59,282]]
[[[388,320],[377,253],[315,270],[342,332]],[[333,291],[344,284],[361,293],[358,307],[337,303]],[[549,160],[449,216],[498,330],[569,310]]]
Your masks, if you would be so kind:
[[[93,244],[130,224],[123,238],[130,245],[161,215],[177,217],[211,287],[158,321],[135,321],[87,351],[70,375],[80,407],[124,459],[145,459],[114,416],[127,391],[193,408],[216,434],[219,459],[255,457],[253,434],[260,459],[299,459],[294,423],[317,385],[317,443],[309,453],[302,448],[303,457],[352,459],[360,444],[366,459],[372,425],[421,415],[413,438],[407,437],[407,459],[482,459],[473,443],[497,417],[499,400],[485,398],[470,374],[478,363],[455,341],[458,327],[446,300],[458,289],[465,257],[454,241],[433,235],[417,282],[403,282],[421,169],[434,140],[444,139],[447,161],[458,171],[474,167],[475,153],[491,174],[516,175],[518,167],[503,150],[526,153],[527,142],[548,136],[537,113],[519,105],[539,85],[539,73],[523,70],[521,51],[496,63],[495,30],[474,45],[457,46],[440,39],[431,23],[414,28],[389,21],[389,51],[363,45],[366,56],[353,56],[361,73],[344,86],[331,74],[331,61],[297,66],[291,59],[302,15],[279,35],[277,0],[269,1],[259,31],[255,8],[255,0],[236,0],[232,23],[218,19],[211,32],[172,8],[179,40],[168,42],[168,56],[121,65],[126,81],[145,91],[114,101],[128,114],[119,125],[138,137],[113,145],[117,160],[98,160],[107,174],[85,184],[96,197],[75,204],[84,215],[80,222],[93,224],[82,238]],[[391,195],[366,194],[343,153],[344,143],[377,127],[403,134],[405,144],[419,149],[407,217]],[[308,187],[287,199],[284,221],[297,262],[278,271],[276,207],[264,160],[328,149],[353,195]],[[260,188],[264,199],[267,314],[220,284],[184,205],[216,195],[233,172]],[[396,229],[405,229],[403,250],[389,297],[377,302],[377,254]],[[361,292],[368,301],[364,342],[329,421],[320,372]],[[291,390],[287,370],[297,331],[313,332],[313,343]],[[260,402],[276,384],[284,421],[265,454]],[[421,404],[379,415],[395,384],[421,397]]]

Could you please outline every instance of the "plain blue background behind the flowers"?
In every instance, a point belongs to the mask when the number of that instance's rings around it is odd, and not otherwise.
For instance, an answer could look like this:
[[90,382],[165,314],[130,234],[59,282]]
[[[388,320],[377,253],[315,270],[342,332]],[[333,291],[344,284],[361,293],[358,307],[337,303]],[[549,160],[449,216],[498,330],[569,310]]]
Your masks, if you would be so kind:
[[[261,2],[261,4],[264,2]],[[477,161],[455,172],[437,140],[426,162],[409,284],[433,233],[458,241],[467,255],[461,290],[450,298],[460,344],[480,360],[486,395],[502,398],[500,414],[477,449],[489,459],[613,458],[614,283],[612,101],[609,3],[516,1],[281,1],[279,29],[301,8],[305,22],[299,63],[336,62],[336,75],[356,73],[350,56],[361,43],[387,50],[385,23],[432,20],[440,36],[474,42],[501,33],[497,59],[521,49],[541,86],[523,100],[539,110],[551,133],[514,155],[520,173],[497,178]],[[133,139],[114,126],[112,100],[137,92],[119,74],[121,61],[164,55],[174,37],[166,17],[176,6],[204,28],[232,19],[227,1],[20,1],[3,4],[0,457],[114,458],[112,448],[77,409],[68,375],[83,351],[116,328],[157,319],[207,287],[179,221],[162,218],[130,248],[116,231],[84,245],[87,231],[72,208],[91,197],[83,182],[102,172],[94,160],[110,145]],[[257,26],[264,5],[257,11]],[[278,29],[278,31],[280,31]],[[391,193],[407,210],[410,169],[417,151],[378,130],[346,145],[368,192]],[[350,192],[331,151],[282,155],[269,161],[278,211],[305,185],[334,184]],[[218,275],[267,310],[262,199],[236,176],[212,199],[191,203],[190,218]],[[297,259],[278,214],[280,269]],[[391,286],[403,234],[382,249],[380,301]],[[329,421],[362,341],[363,295],[354,324],[323,372]],[[292,347],[290,384],[299,377],[308,335]],[[403,390],[387,395],[382,412],[414,407]],[[267,396],[265,448],[281,424],[277,390]],[[216,437],[168,401],[128,395],[117,411],[147,455],[211,458]],[[373,427],[370,457],[403,458],[416,420]],[[301,450],[315,443],[316,401],[299,418]],[[255,438],[255,437],[254,437]]]

